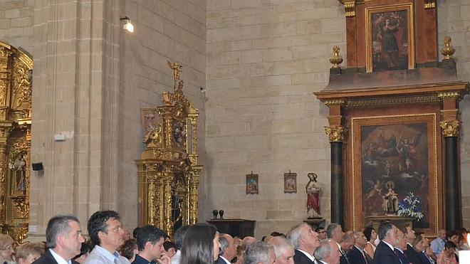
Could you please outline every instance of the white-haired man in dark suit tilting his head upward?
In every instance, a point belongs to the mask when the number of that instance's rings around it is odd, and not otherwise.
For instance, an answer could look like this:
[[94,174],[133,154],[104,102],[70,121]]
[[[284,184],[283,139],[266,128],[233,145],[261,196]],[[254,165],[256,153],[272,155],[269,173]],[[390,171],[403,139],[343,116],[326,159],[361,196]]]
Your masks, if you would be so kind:
[[293,258],[295,264],[318,264],[313,253],[320,246],[320,240],[318,233],[313,231],[308,223],[301,223],[292,228],[287,234],[287,238],[296,248],[296,254]]

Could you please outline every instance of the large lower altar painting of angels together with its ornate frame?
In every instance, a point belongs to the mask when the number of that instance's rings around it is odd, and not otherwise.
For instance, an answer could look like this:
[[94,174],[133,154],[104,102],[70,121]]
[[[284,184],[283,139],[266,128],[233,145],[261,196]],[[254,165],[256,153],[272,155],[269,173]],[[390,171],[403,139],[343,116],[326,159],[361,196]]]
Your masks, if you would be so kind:
[[[368,216],[413,218],[414,228],[437,232],[441,163],[436,113],[352,117],[353,226]],[[394,203],[384,197],[394,196]]]

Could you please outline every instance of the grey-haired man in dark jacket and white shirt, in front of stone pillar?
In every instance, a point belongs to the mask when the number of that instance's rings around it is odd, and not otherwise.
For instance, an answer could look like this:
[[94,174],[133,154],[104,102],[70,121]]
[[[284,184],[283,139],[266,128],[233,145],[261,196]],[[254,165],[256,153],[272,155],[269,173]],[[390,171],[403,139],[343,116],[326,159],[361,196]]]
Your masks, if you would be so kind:
[[[75,216],[54,216],[46,228],[46,253],[34,261],[34,264],[58,264],[69,262],[80,254],[85,239],[80,230],[80,222]],[[78,264],[71,260],[73,264]]]

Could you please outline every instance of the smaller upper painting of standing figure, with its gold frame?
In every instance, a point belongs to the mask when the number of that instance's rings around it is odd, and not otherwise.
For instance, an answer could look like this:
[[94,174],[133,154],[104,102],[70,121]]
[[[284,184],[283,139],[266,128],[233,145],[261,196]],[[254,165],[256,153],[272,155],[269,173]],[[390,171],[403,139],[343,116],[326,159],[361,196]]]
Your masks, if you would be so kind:
[[414,68],[413,4],[365,9],[366,71]]

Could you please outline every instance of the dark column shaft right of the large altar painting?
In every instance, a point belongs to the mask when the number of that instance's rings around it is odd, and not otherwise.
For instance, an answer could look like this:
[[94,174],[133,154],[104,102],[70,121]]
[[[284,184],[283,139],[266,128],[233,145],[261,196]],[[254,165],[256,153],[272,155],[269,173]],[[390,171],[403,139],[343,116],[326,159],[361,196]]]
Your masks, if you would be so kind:
[[456,230],[462,227],[462,207],[460,201],[458,147],[459,137],[445,137],[446,170],[444,171],[444,197],[446,204],[446,228]]

